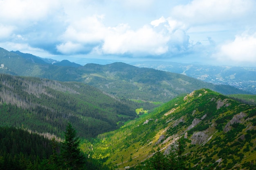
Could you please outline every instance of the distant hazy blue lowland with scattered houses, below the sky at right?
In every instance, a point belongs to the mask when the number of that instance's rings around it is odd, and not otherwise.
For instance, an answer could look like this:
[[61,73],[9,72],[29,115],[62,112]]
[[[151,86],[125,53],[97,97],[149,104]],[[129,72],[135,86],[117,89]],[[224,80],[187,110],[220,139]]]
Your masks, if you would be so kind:
[[131,62],[130,64],[138,67],[180,73],[204,82],[226,84],[256,94],[256,87],[254,85],[256,83],[256,67],[211,66],[161,61]]

